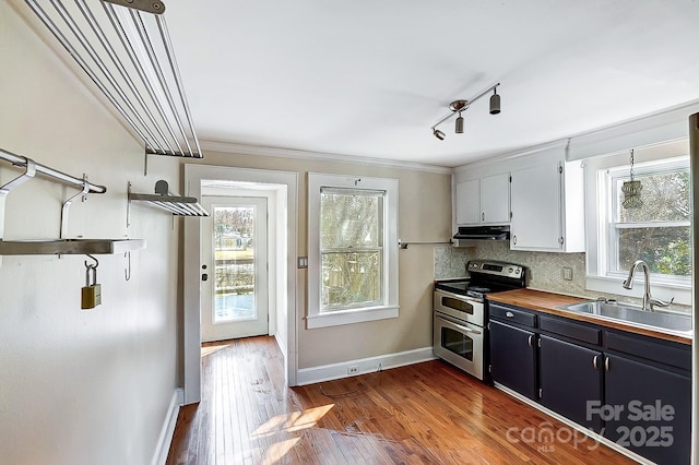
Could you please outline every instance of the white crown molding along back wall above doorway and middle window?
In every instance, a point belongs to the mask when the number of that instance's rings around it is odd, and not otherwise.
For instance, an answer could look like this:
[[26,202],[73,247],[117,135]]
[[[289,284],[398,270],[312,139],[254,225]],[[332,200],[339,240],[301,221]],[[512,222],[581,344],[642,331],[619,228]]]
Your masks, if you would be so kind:
[[228,142],[200,141],[202,151],[223,152],[238,155],[259,155],[279,158],[308,159],[316,162],[346,163],[351,165],[374,165],[388,168],[411,169],[415,171],[451,175],[453,168],[411,162],[386,160],[379,158],[358,157],[320,152],[308,152],[293,148],[265,147],[261,145],[234,144]]

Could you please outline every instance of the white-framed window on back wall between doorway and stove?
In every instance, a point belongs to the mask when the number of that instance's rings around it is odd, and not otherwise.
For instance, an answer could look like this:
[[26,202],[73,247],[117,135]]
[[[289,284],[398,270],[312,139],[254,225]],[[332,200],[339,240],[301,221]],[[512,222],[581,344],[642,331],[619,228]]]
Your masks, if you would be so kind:
[[309,329],[398,317],[398,180],[308,176]]

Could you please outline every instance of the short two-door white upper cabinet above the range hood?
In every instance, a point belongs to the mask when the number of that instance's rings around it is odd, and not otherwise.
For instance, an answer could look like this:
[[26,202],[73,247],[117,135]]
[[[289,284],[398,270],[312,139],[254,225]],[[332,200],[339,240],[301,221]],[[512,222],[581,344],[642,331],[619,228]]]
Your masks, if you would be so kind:
[[510,223],[509,172],[457,183],[458,226]]

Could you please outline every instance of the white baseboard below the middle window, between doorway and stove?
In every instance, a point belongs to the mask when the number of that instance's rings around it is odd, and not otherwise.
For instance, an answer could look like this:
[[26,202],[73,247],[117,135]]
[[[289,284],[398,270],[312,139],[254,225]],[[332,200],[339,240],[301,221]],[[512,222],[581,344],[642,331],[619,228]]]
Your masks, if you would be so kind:
[[[404,367],[406,365],[435,360],[436,358],[437,357],[433,354],[431,346],[429,346],[413,350],[379,355],[376,357],[347,360],[339,363],[301,368],[298,370],[296,381],[298,385],[312,384],[322,381],[355,377],[357,374],[372,373],[379,369],[386,370],[389,368]],[[350,368],[356,368],[357,371],[350,374]]]

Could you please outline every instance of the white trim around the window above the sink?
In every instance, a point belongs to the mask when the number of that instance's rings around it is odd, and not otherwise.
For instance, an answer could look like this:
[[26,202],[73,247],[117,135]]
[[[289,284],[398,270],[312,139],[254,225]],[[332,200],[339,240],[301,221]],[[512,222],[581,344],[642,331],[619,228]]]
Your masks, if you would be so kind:
[[[635,172],[645,171],[643,165],[659,162],[666,166],[682,166],[688,163],[688,140],[682,139],[650,147],[636,150]],[[677,154],[680,154],[677,156]],[[608,199],[612,186],[605,171],[616,167],[628,166],[628,152],[595,157],[584,163],[585,167],[585,216],[587,222],[587,274],[585,288],[588,290],[615,294],[626,297],[640,298],[643,294],[643,276],[637,275],[631,290],[625,289],[621,283],[628,276],[625,272],[607,272],[609,270],[609,229],[613,208]],[[675,299],[679,305],[691,305],[691,279],[667,278],[662,275],[651,276],[653,296],[663,299]]]

